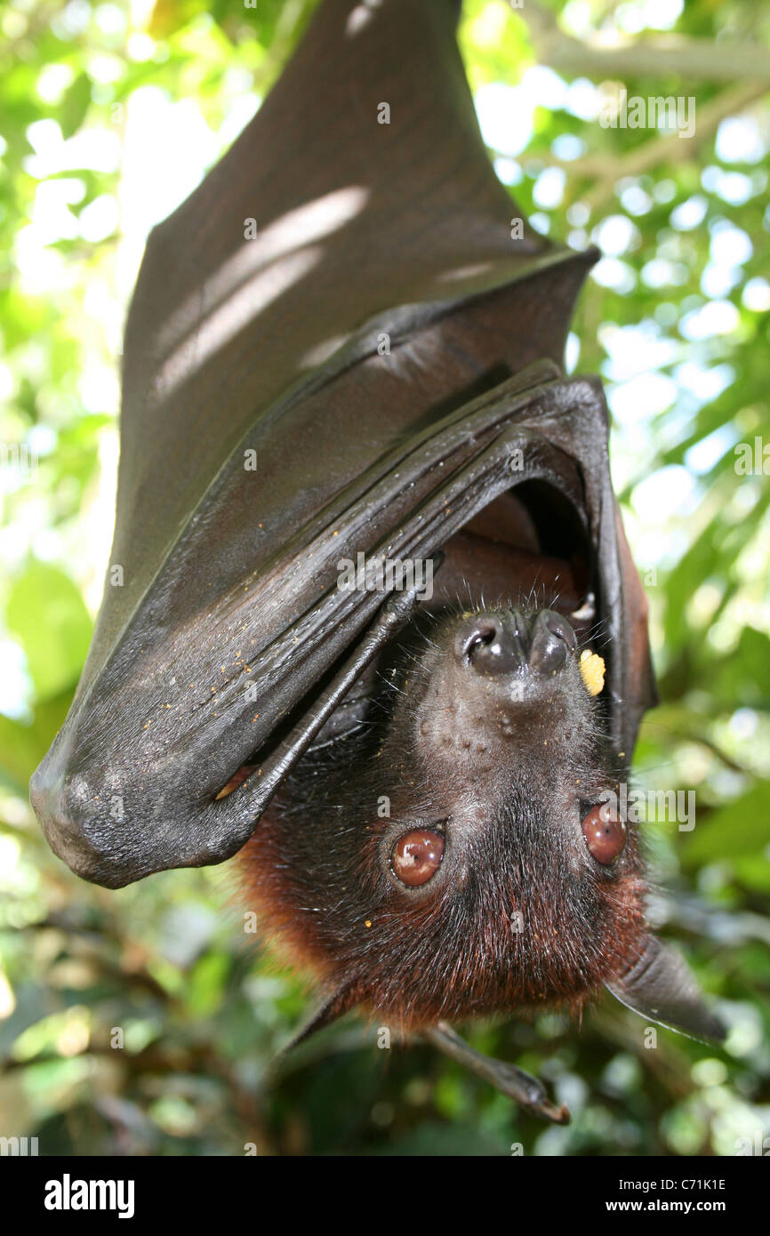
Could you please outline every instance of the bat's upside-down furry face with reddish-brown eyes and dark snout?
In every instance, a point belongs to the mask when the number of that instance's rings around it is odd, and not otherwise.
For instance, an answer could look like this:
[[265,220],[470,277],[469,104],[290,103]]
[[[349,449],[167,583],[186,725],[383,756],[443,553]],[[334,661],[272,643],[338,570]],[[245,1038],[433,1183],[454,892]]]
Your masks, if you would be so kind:
[[[444,595],[468,561],[449,550]],[[510,546],[486,550],[488,590]],[[578,667],[590,619],[555,608],[570,572],[551,571],[551,608],[439,596],[378,667],[361,728],[300,763],[246,848],[267,923],[337,1011],[403,1027],[577,1011],[641,952],[637,839],[601,815],[614,781]]]

